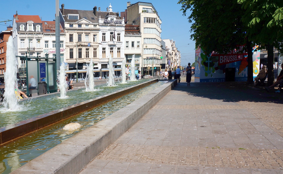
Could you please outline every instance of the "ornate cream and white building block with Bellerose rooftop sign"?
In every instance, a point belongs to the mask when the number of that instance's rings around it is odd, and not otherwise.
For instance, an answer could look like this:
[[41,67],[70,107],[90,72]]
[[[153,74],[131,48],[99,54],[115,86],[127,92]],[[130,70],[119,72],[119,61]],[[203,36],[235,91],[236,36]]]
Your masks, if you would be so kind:
[[[60,9],[61,25],[66,32],[66,62],[69,70],[85,69],[91,58],[95,69],[108,68],[111,55],[113,65],[121,67],[124,57],[124,19],[112,11],[95,6],[93,10]],[[78,67],[76,67],[78,63]]]

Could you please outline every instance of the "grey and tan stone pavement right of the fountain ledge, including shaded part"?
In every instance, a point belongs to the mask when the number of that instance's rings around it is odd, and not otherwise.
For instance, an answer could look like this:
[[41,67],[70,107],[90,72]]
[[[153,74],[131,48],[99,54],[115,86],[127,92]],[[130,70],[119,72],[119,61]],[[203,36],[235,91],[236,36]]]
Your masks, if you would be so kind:
[[282,99],[243,82],[181,81],[80,174],[283,174]]

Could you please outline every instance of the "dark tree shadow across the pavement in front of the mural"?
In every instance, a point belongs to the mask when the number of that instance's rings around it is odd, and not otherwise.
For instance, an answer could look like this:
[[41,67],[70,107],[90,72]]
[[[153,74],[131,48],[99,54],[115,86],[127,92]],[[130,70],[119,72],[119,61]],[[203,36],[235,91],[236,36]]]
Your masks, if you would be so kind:
[[223,102],[269,102],[283,104],[283,92],[267,92],[247,82],[178,83],[175,91],[183,91],[196,97],[222,100]]

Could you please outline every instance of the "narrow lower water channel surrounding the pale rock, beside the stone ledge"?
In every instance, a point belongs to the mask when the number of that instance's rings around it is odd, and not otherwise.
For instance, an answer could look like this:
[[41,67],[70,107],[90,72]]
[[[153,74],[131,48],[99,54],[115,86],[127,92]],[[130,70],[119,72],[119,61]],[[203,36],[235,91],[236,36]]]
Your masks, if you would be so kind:
[[[11,171],[14,171],[69,137],[89,128],[96,122],[127,106],[166,82],[167,81],[159,81],[151,84],[136,90],[135,92],[124,95],[123,97],[112,100],[111,102],[16,139],[14,142],[9,142],[0,146],[0,173],[3,171],[3,174],[8,174]],[[63,126],[71,122],[77,122],[81,124],[82,127],[74,132],[63,131]]]

